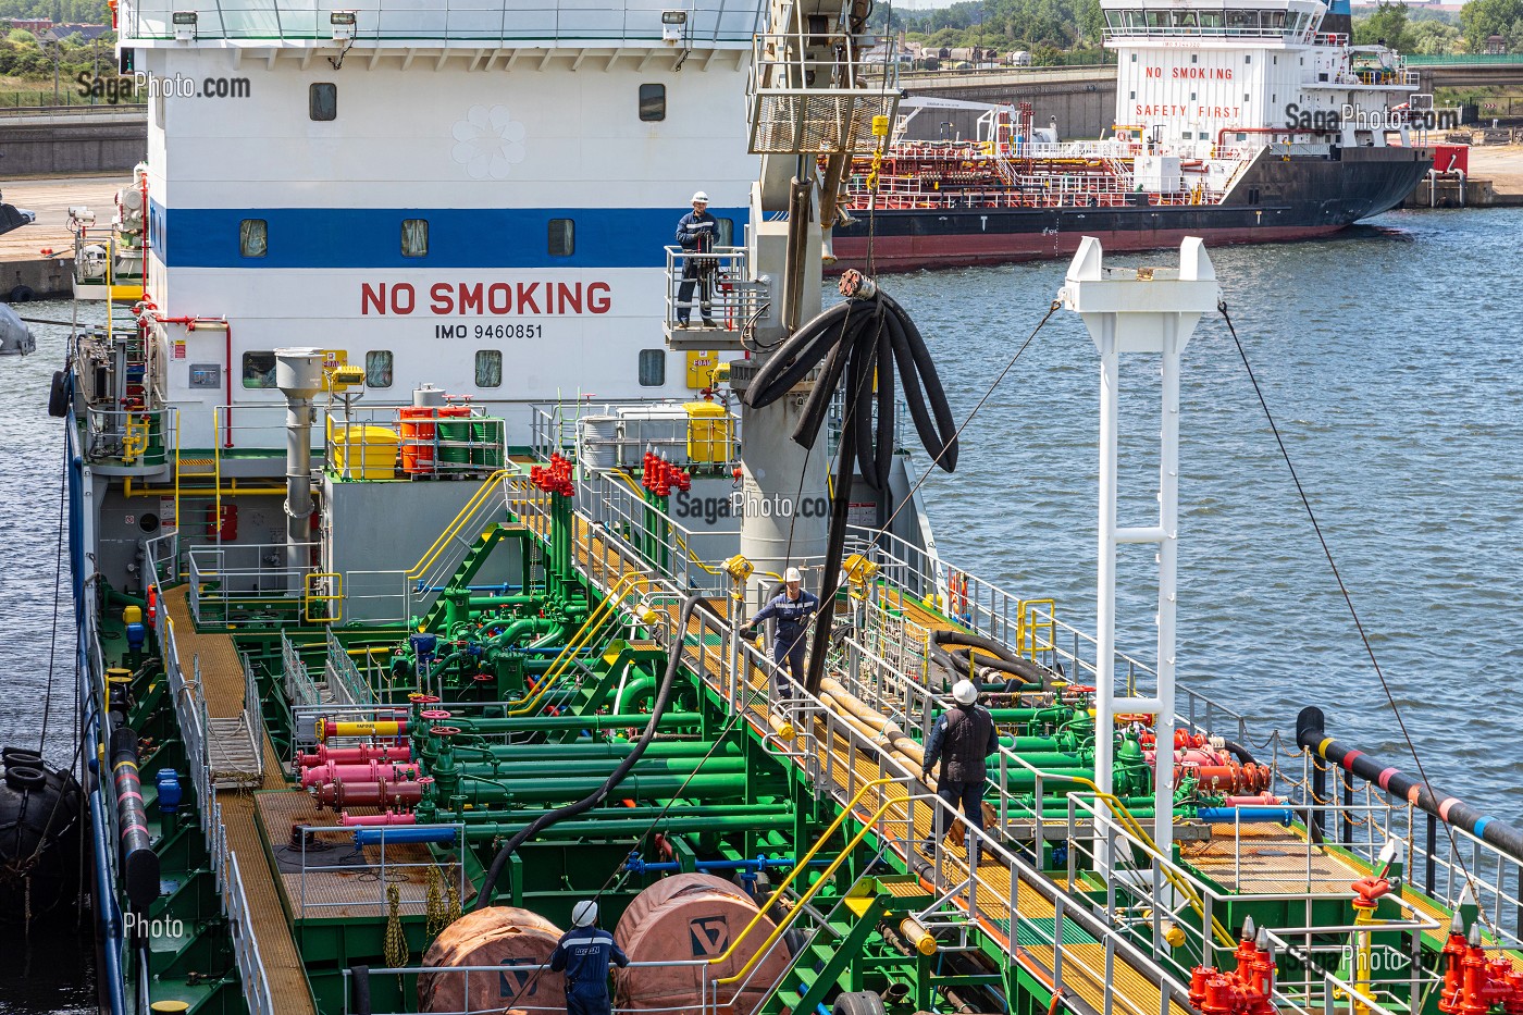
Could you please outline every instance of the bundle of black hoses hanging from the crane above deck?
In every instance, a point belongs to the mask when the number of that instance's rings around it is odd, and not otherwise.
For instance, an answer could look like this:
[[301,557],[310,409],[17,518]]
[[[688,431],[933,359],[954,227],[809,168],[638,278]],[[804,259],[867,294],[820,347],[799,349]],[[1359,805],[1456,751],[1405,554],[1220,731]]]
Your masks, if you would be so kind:
[[[862,477],[868,486],[876,491],[888,486],[888,472],[894,463],[896,366],[903,383],[905,405],[931,460],[952,472],[958,456],[952,407],[915,322],[860,271],[845,271],[838,288],[847,300],[819,314],[784,341],[766,366],[757,370],[745,395],[752,408],[771,405],[824,363],[793,430],[793,440],[812,448],[824,427],[836,387],[845,378],[841,460],[836,465],[835,497],[830,504],[825,567],[819,579],[819,597],[824,602],[835,596],[841,579],[847,506],[851,503],[856,463],[862,463]],[[809,675],[804,681],[810,693],[819,693],[832,620],[832,610],[821,610],[815,620]]]

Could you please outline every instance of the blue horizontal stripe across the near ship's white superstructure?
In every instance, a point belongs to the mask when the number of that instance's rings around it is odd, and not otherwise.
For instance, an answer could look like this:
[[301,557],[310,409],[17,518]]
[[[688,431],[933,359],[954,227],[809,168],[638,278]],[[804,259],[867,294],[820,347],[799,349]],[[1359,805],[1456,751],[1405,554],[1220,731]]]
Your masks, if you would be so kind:
[[[157,203],[151,242],[171,268],[663,268],[684,207],[206,209]],[[749,212],[710,209],[743,242]],[[268,253],[244,258],[239,223],[268,223]],[[402,256],[402,219],[428,219],[428,256]],[[550,219],[576,223],[576,248],[550,256]],[[172,236],[172,239],[171,239]]]

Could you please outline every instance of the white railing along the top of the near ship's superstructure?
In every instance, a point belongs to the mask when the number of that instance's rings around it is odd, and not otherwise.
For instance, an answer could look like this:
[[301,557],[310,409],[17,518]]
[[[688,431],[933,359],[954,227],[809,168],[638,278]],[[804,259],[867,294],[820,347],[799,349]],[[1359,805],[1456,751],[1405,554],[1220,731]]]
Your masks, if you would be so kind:
[[[663,24],[669,9],[687,14],[681,26]],[[172,41],[174,15],[186,11],[181,0],[122,0],[117,14],[123,43]],[[631,43],[682,47],[749,44],[758,11],[755,5],[728,0],[595,0],[556,3],[536,0],[219,0],[189,5],[196,11],[193,40],[335,40],[334,11],[353,12],[352,34],[366,43],[469,43],[536,49],[574,43]],[[341,40],[343,41],[343,40]]]

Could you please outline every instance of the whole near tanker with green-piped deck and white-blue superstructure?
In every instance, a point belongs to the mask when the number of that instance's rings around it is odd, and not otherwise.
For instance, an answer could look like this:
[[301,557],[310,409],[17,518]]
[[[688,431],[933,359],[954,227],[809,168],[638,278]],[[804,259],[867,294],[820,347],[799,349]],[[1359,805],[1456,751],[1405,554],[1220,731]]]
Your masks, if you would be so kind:
[[[586,902],[618,1012],[1523,1003],[1514,828],[1176,680],[1199,241],[1054,273],[1100,360],[1095,625],[938,553],[917,463],[978,427],[891,287],[824,308],[810,213],[896,113],[868,6],[117,6],[123,61],[190,84],[75,210],[50,401],[102,1010],[565,1010]],[[1162,372],[1136,526],[1121,360]],[[797,681],[748,637],[789,568],[825,604]],[[972,814],[923,773],[963,680]],[[6,814],[47,809],[37,760]]]

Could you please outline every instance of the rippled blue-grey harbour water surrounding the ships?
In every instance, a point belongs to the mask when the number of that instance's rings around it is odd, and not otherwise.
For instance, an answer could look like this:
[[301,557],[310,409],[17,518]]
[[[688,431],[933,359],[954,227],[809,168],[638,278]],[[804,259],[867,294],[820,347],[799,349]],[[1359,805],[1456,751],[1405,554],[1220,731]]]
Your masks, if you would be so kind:
[[[1129,256],[1162,264],[1174,255]],[[1212,251],[1244,347],[1301,472],[1407,728],[1442,791],[1523,823],[1523,210],[1392,213],[1325,242]],[[963,416],[1062,285],[1062,264],[885,279],[929,337]],[[35,317],[69,306],[34,303]],[[0,358],[0,744],[41,725],[62,430],[47,381],[64,329]],[[1156,372],[1122,361],[1124,524],[1156,504]],[[1320,704],[1328,728],[1412,770],[1337,585],[1226,329],[1185,354],[1179,664],[1246,712],[1260,738]],[[1098,358],[1071,314],[1037,337],[964,434],[956,475],[928,485],[941,550],[1094,626]],[[1153,637],[1151,555],[1119,581],[1119,646]],[[67,602],[67,587],[65,587]],[[70,617],[49,754],[73,750]],[[59,719],[61,718],[61,719]],[[87,940],[87,939],[85,939]],[[0,949],[0,1015],[93,1007],[88,948]],[[67,960],[59,962],[58,956]]]

